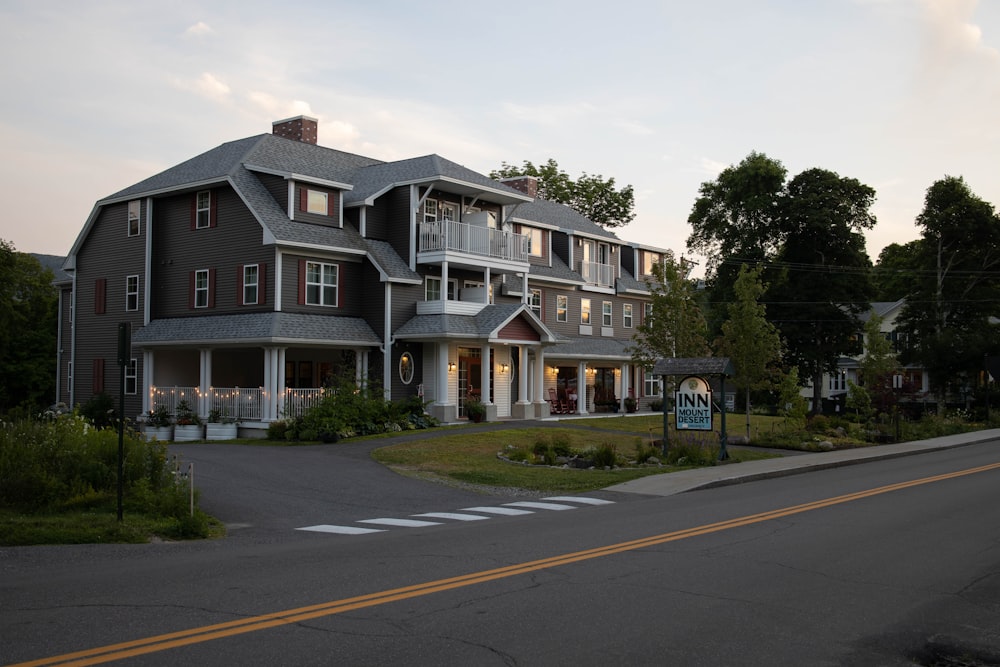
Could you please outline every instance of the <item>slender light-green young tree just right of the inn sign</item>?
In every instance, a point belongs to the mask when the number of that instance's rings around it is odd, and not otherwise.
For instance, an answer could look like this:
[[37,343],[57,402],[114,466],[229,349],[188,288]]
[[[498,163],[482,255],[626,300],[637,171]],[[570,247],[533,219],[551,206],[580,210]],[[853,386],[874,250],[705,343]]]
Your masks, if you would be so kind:
[[722,337],[717,346],[720,354],[729,357],[736,370],[736,387],[746,398],[746,435],[750,439],[750,392],[771,389],[780,372],[781,336],[767,320],[767,309],[760,303],[765,286],[761,282],[763,267],[740,267],[734,285],[736,300],[729,304],[729,319],[722,325]]

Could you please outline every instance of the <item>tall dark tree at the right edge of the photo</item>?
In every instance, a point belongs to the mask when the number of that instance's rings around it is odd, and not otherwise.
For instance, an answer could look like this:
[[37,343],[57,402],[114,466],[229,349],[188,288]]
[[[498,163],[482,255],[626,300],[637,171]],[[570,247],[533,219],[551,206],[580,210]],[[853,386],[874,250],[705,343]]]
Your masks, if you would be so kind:
[[927,369],[943,399],[1000,352],[991,322],[1000,316],[1000,218],[961,177],[946,176],[928,188],[917,226],[917,270],[897,320],[910,341],[902,360]]

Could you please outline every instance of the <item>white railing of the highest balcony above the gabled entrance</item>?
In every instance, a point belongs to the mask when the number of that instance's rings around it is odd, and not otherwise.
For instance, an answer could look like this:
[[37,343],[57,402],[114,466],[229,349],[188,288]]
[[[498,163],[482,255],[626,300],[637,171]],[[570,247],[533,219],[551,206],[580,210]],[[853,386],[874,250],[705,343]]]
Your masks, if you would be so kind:
[[[503,263],[528,263],[528,237],[492,227],[453,220],[421,222],[417,252],[424,259],[447,259],[460,253]],[[428,257],[430,256],[430,257]]]

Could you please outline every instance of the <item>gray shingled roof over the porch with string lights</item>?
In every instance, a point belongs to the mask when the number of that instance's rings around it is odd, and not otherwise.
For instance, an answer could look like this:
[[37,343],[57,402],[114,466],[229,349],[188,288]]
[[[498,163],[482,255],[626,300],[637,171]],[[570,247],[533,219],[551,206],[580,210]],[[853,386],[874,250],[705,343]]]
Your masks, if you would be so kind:
[[138,347],[184,343],[261,344],[309,342],[379,345],[382,340],[360,317],[303,313],[247,313],[153,320],[132,335]]

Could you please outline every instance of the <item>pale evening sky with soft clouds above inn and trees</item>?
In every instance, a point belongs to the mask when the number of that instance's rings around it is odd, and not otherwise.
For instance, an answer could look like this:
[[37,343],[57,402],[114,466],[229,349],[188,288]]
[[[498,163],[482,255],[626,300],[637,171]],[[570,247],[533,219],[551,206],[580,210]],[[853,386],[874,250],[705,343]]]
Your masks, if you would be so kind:
[[[275,120],[381,160],[549,158],[635,189],[626,240],[686,250],[750,152],[877,192],[1000,205],[1000,0],[0,0],[0,239],[65,255],[94,203]],[[702,262],[703,264],[703,262]]]

